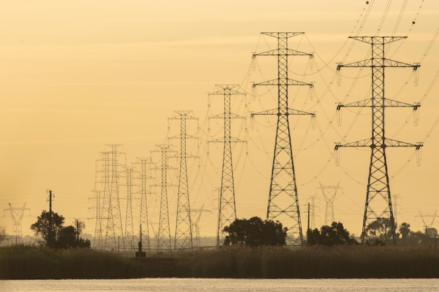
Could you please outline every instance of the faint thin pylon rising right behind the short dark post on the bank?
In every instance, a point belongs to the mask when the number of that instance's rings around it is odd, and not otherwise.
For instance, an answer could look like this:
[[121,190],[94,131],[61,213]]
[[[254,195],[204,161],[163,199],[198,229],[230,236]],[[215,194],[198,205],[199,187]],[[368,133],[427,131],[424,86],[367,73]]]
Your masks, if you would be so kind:
[[151,158],[137,158],[137,164],[140,165],[140,238],[142,239],[142,248],[150,249],[147,195],[151,194],[151,187],[147,181],[153,179],[151,175],[148,175],[153,163]]

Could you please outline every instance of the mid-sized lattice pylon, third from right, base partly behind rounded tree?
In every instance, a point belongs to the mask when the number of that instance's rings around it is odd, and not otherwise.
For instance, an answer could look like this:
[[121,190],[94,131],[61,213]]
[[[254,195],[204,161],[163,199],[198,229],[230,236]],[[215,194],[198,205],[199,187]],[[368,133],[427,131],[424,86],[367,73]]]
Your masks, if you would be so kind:
[[224,143],[224,151],[222,156],[222,175],[221,188],[219,190],[218,204],[218,230],[217,230],[217,246],[224,239],[224,227],[230,225],[236,220],[236,202],[235,202],[235,186],[234,186],[234,167],[231,155],[231,143],[245,142],[241,139],[231,137],[231,119],[244,118],[235,113],[231,113],[231,95],[245,95],[245,93],[237,90],[239,85],[215,85],[215,91],[209,95],[224,96],[224,112],[211,118],[221,118],[224,120],[224,137],[209,142]]

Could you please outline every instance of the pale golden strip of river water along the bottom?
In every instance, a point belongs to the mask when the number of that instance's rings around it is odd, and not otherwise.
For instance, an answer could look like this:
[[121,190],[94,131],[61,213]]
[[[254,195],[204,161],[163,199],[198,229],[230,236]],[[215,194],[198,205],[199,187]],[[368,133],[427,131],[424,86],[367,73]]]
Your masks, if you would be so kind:
[[1,280],[1,292],[439,291],[439,279],[112,279]]

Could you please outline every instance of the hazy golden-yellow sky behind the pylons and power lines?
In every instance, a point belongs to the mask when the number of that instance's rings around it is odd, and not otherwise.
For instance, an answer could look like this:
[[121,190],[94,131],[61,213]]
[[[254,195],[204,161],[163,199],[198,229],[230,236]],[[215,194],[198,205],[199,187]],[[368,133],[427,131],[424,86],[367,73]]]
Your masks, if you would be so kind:
[[[387,56],[421,62],[419,86],[411,69],[386,69],[386,97],[421,102],[419,125],[414,127],[411,109],[389,109],[386,135],[425,141],[421,166],[412,148],[387,153],[398,223],[421,230],[419,211],[431,215],[439,209],[438,29],[436,0],[1,1],[0,206],[26,202],[32,216],[23,218],[22,229],[30,234],[29,225],[48,209],[46,189],[51,189],[54,211],[68,224],[81,218],[93,234],[95,160],[105,145],[123,144],[128,164],[150,156],[156,144],[178,132],[175,122],[168,130],[174,111],[191,110],[201,129],[191,133],[200,141],[199,153],[190,146],[200,158],[188,164],[191,206],[211,210],[201,217],[201,234],[215,235],[222,147],[211,144],[207,155],[206,141],[221,137],[222,130],[220,120],[208,123],[206,117],[222,112],[222,99],[209,99],[208,93],[215,84],[240,84],[248,95],[233,97],[233,111],[248,116],[275,108],[276,88],[258,88],[254,96],[251,90],[252,82],[276,78],[274,57],[252,60],[252,53],[276,48],[275,40],[260,32],[305,32],[290,39],[290,48],[313,53],[313,68],[308,57],[289,63],[290,78],[314,83],[312,99],[303,88],[291,90],[292,108],[317,116],[316,130],[309,117],[291,119],[302,224],[313,195],[316,225],[325,223],[318,188],[339,183],[343,191],[335,198],[335,220],[360,235],[370,149],[342,148],[336,167],[333,148],[338,141],[370,138],[370,110],[344,109],[341,127],[335,112],[338,102],[370,97],[370,71],[343,69],[337,86],[336,63],[370,57],[370,46],[349,36],[407,36],[389,46]],[[234,135],[248,140],[247,146],[234,146],[240,218],[265,218],[275,122],[257,117],[252,123],[248,118],[247,126],[232,124]],[[171,223],[175,191],[168,193]],[[156,224],[158,195],[149,200],[149,220]],[[8,211],[4,215],[0,223],[11,233]]]

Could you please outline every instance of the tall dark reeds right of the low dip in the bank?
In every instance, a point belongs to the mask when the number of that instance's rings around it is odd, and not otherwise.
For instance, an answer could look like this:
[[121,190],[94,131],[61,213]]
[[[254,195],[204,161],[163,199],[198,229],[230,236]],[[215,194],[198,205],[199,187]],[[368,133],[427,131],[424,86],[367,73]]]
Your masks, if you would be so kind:
[[180,277],[438,278],[435,246],[227,248],[179,256]]

